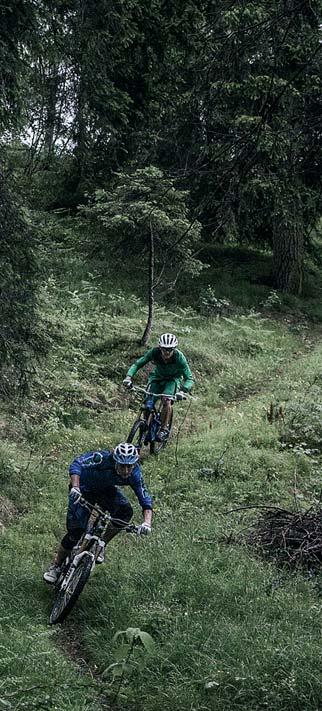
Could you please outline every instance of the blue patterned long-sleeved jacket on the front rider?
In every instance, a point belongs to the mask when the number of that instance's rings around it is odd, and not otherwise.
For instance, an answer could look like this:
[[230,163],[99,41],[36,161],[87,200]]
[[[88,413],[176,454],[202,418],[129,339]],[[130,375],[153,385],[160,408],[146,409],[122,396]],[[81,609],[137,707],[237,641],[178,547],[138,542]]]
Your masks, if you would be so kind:
[[122,479],[116,471],[112,453],[108,449],[86,452],[76,457],[69,467],[69,473],[80,477],[80,490],[86,493],[104,494],[111,486],[130,486],[136,494],[143,511],[152,509],[152,497],[145,488],[139,464],[131,475]]

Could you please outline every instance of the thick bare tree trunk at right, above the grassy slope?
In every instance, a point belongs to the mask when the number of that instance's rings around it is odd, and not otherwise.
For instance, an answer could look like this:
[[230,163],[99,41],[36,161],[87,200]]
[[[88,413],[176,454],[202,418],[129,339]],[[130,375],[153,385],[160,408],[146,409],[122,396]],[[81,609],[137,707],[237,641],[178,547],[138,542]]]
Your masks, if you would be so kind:
[[297,221],[276,220],[273,228],[273,278],[278,289],[300,296],[304,238]]

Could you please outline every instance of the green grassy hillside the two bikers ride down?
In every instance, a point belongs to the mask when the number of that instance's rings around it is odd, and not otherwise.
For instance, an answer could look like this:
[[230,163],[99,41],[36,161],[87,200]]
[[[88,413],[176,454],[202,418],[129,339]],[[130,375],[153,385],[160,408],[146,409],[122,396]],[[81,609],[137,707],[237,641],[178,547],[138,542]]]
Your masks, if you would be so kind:
[[[120,383],[145,319],[133,283],[112,268],[89,273],[71,255],[61,244],[44,251],[51,350],[28,402],[1,406],[0,709],[316,711],[320,577],[229,544],[258,512],[227,512],[319,500],[319,284],[302,302],[276,298],[250,285],[247,269],[232,278],[234,255],[222,252],[191,285],[190,303],[157,309],[153,341],[178,335],[197,399],[188,412],[176,407],[171,444],[143,463],[153,535],[114,540],[70,621],[51,629],[42,572],[64,530],[67,467],[126,436],[137,403]],[[206,291],[213,280],[230,302],[222,317]],[[268,422],[271,402],[283,403],[284,421]],[[155,644],[130,657],[120,685],[109,667],[125,651],[113,636],[128,628]]]

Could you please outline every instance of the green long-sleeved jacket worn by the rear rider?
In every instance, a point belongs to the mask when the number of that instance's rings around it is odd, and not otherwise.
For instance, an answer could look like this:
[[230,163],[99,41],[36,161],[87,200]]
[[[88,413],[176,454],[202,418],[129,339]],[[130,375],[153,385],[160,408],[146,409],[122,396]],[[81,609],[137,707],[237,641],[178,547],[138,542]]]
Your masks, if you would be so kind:
[[131,365],[126,375],[133,378],[137,371],[150,361],[156,366],[153,373],[151,373],[150,379],[177,380],[183,378],[182,389],[186,392],[191,390],[193,386],[192,373],[186,357],[178,350],[175,350],[172,358],[165,363],[162,359],[160,348],[150,348]]

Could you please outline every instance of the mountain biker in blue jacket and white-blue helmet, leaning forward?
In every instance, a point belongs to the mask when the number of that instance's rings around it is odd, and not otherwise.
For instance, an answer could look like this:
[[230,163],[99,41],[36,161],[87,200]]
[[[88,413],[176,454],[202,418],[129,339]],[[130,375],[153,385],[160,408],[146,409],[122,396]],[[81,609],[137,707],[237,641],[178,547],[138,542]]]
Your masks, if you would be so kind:
[[[47,583],[57,581],[66,556],[86,531],[90,512],[79,503],[81,496],[92,504],[98,504],[113,518],[128,523],[132,518],[133,509],[119,487],[130,486],[143,511],[144,520],[139,527],[139,534],[151,533],[152,498],[145,487],[139,466],[139,454],[133,444],[121,442],[114,450],[103,449],[81,454],[71,463],[69,474],[67,533],[61,541],[54,562],[44,573]],[[111,541],[121,530],[121,524],[110,522],[104,534],[105,543]],[[97,562],[102,563],[103,560],[104,555],[101,559],[98,558]]]

